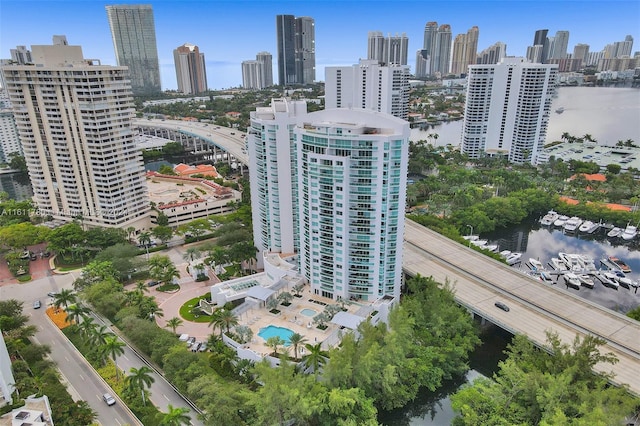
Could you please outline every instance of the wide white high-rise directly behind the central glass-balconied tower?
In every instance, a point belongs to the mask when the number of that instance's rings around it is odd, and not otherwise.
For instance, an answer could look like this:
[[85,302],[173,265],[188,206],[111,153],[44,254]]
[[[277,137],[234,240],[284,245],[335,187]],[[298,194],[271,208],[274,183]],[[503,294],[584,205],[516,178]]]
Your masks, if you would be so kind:
[[409,113],[409,67],[377,60],[325,68],[326,108],[364,108],[403,120]]

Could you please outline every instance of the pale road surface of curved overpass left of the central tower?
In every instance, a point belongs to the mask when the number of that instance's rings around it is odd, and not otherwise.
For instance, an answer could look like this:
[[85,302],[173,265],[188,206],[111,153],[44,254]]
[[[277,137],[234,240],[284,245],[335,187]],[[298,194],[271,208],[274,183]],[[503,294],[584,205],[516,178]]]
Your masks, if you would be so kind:
[[195,136],[227,151],[244,165],[249,164],[249,156],[246,154],[245,141],[242,135],[245,132],[229,127],[217,126],[212,123],[200,123],[197,121],[160,120],[137,118],[133,120],[133,127],[156,127],[172,130]]

